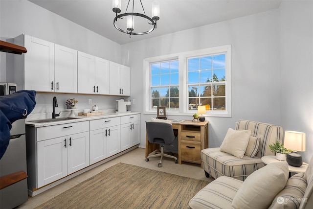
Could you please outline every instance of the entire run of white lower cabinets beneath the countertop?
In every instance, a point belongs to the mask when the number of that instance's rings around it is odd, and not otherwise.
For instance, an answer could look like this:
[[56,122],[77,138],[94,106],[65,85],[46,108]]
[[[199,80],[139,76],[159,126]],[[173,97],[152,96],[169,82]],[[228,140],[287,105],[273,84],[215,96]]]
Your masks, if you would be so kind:
[[140,114],[26,125],[28,194],[139,144],[139,135]]

